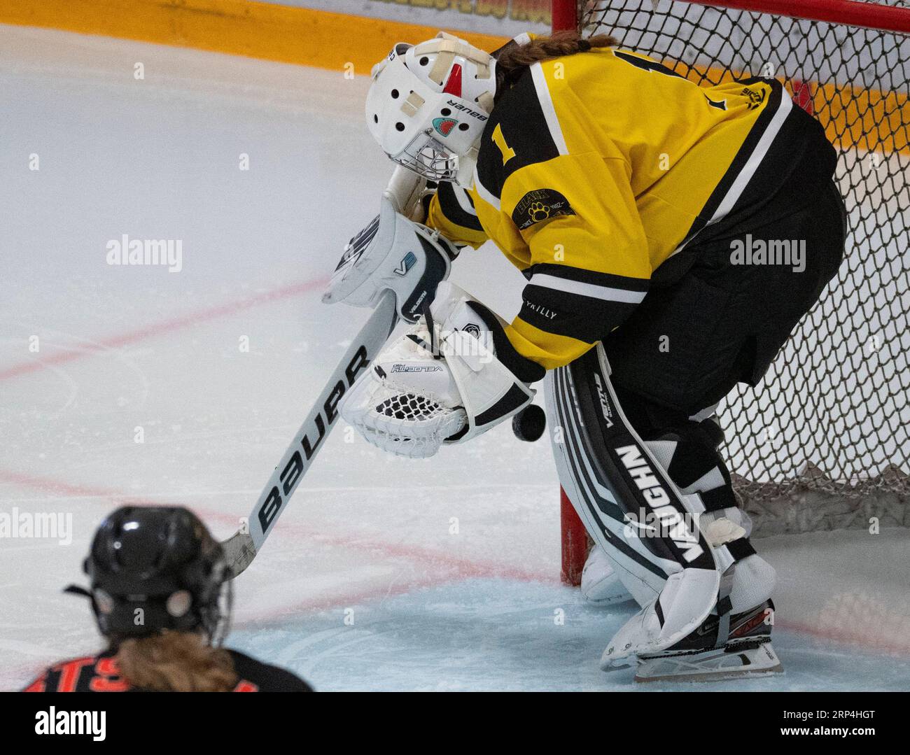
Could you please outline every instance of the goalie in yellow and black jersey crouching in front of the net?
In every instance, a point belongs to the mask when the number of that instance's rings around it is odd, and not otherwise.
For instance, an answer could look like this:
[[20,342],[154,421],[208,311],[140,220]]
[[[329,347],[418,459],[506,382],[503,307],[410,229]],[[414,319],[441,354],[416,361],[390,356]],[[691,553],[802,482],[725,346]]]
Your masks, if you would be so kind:
[[427,457],[520,412],[546,373],[561,485],[595,543],[593,591],[642,607],[602,667],[780,670],[774,571],[710,417],[737,382],[762,379],[843,257],[822,126],[777,81],[697,86],[575,34],[521,35],[492,55],[444,33],[396,45],[366,116],[401,167],[326,299],[401,297],[412,269],[448,269],[488,239],[527,285],[505,323],[440,282],[342,416],[379,448]]

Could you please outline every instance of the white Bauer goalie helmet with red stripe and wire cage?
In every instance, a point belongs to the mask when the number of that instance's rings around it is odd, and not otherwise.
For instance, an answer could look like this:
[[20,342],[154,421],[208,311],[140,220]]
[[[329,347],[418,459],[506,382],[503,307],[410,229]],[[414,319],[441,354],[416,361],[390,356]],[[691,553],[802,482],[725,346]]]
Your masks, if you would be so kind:
[[445,32],[420,45],[395,45],[373,66],[370,134],[399,165],[470,187],[493,109],[495,66],[488,53]]

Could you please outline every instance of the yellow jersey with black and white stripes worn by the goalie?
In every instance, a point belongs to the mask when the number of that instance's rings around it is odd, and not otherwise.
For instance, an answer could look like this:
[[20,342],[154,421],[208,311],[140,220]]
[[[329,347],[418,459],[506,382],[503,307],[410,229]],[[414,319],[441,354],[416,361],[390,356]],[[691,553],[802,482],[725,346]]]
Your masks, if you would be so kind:
[[440,189],[428,224],[473,247],[489,238],[521,269],[511,343],[560,367],[622,324],[694,237],[772,196],[806,122],[824,141],[774,80],[699,86],[614,47],[553,58],[501,95],[473,186]]

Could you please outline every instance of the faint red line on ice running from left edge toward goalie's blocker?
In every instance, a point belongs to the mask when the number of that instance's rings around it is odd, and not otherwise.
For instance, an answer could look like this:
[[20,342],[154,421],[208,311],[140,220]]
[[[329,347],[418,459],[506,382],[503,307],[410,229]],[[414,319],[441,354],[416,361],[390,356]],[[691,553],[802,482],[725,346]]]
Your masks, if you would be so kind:
[[153,325],[139,327],[136,330],[128,330],[126,333],[106,337],[97,343],[86,344],[85,346],[76,348],[68,348],[59,351],[56,354],[52,354],[49,357],[35,359],[30,362],[23,362],[21,364],[14,365],[13,367],[0,369],[0,380],[8,380],[12,377],[20,377],[31,372],[37,372],[38,370],[45,369],[45,367],[50,367],[51,365],[59,365],[66,362],[72,362],[75,359],[82,357],[89,357],[94,354],[103,354],[111,349],[135,344],[138,341],[145,340],[146,338],[169,335],[174,330],[198,325],[199,323],[214,320],[218,317],[235,315],[238,312],[244,311],[245,309],[258,307],[260,304],[271,304],[272,302],[278,301],[280,299],[296,297],[300,294],[308,294],[314,290],[325,287],[327,282],[327,278],[305,280],[298,283],[292,283],[288,286],[273,288],[269,291],[263,291],[260,294],[255,294],[251,297],[239,299],[238,301],[227,302],[226,304],[219,304],[215,307],[207,307],[206,309],[199,309],[196,312],[189,312],[186,315],[172,317],[169,320],[161,320]]

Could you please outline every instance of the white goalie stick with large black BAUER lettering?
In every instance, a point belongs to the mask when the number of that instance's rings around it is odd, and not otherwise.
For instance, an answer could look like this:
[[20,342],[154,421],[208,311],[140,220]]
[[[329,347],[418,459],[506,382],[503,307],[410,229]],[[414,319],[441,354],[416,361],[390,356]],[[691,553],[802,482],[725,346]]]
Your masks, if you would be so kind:
[[248,520],[237,532],[221,543],[232,579],[247,569],[256,558],[256,554],[268,538],[268,533],[287,508],[288,499],[294,494],[300,479],[319,453],[319,448],[325,445],[325,439],[331,429],[335,427],[339,418],[338,406],[341,398],[379,354],[379,349],[389,338],[398,318],[395,294],[386,291],[366,324],[360,328],[357,337],[351,342],[344,357],[341,357],[338,367],[335,367],[335,371],[329,377],[328,384],[319,394],[316,405],[303,420],[278,467],[268,478],[266,487],[259,494]]

